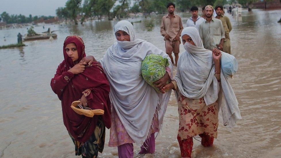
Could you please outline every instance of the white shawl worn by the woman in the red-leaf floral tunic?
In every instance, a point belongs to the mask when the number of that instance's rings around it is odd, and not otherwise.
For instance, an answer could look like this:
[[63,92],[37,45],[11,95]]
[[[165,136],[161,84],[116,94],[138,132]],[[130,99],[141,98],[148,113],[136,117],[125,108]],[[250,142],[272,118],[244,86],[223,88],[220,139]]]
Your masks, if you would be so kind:
[[[183,35],[191,37],[195,45],[186,42],[184,44],[186,51],[179,57],[177,73],[174,78],[179,92],[191,99],[203,97],[206,105],[210,105],[219,99],[224,124],[229,125],[229,127],[236,125],[236,121],[241,119],[238,101],[223,73],[221,73],[221,84],[214,76],[215,67],[212,52],[204,48],[195,27],[184,28],[181,33],[181,36]],[[175,94],[178,96],[177,92]]]

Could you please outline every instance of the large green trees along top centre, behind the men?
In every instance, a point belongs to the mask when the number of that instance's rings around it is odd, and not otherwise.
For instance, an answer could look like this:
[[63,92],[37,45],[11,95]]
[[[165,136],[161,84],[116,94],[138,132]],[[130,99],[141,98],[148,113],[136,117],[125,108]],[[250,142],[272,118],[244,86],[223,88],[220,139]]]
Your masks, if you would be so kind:
[[56,9],[56,14],[59,18],[74,21],[75,24],[78,24],[77,16],[80,16],[82,24],[88,18],[101,19],[102,16],[112,20],[128,17],[130,13],[143,13],[145,16],[152,12],[165,14],[169,2],[175,3],[180,12],[185,12],[194,5],[228,3],[227,0],[84,0],[82,4],[82,0],[68,0],[65,7]]

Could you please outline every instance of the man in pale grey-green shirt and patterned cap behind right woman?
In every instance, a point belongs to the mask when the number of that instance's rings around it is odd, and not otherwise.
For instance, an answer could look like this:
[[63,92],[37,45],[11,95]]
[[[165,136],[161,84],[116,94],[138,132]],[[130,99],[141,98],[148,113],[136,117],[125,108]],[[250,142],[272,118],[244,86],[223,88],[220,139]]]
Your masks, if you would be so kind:
[[213,12],[211,5],[205,7],[206,19],[199,26],[199,34],[205,49],[218,48],[222,51],[225,39],[223,24],[221,20],[213,18]]

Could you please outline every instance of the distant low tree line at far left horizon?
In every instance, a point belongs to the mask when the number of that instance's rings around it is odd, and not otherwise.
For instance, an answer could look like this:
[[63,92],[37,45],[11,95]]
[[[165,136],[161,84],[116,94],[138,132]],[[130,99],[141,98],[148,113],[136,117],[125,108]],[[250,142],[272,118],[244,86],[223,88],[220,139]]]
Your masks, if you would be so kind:
[[0,21],[3,20],[3,22],[6,22],[7,24],[13,24],[13,23],[18,23],[18,24],[23,24],[23,23],[30,23],[39,19],[50,19],[50,18],[54,18],[54,16],[32,16],[31,14],[29,14],[29,16],[24,16],[22,14],[20,15],[15,15],[15,14],[11,14],[9,15],[7,12],[3,12],[2,14],[0,14]]

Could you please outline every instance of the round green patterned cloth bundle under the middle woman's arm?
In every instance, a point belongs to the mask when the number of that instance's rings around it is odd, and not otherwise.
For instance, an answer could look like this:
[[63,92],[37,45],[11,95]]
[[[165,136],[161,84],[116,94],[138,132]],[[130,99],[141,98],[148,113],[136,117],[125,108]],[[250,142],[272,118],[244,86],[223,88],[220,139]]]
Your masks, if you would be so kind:
[[[167,58],[161,55],[149,54],[141,62],[141,74],[143,79],[153,87],[157,93],[161,93],[159,88],[155,87],[153,82],[161,79],[166,73],[166,66],[169,66]],[[167,81],[167,83],[169,83]]]

